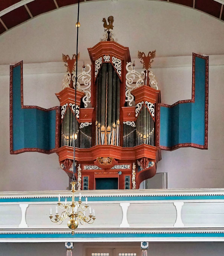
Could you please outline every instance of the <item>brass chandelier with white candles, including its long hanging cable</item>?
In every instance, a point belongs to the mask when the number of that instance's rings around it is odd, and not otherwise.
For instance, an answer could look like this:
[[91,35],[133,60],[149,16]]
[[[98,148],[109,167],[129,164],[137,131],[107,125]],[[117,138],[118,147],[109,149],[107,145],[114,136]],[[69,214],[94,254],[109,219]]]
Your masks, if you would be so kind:
[[[76,56],[78,56],[78,32],[79,32],[79,1],[78,1],[78,18],[77,18],[77,37],[76,37]],[[78,66],[77,66],[78,58],[76,59],[76,77],[75,77],[75,109],[76,109],[76,90],[77,90],[77,73],[78,73]],[[75,120],[75,119],[74,119]],[[76,122],[74,124],[74,137],[77,139],[77,134],[75,134],[75,126]],[[67,198],[65,199],[64,203],[61,203],[60,201],[60,195],[58,196],[58,206],[60,209],[65,209],[60,215],[58,214],[58,207],[56,206],[55,209],[55,216],[53,218],[52,215],[52,209],[50,208],[50,215],[49,218],[52,222],[56,224],[61,224],[65,219],[70,218],[68,221],[68,227],[72,229],[72,235],[75,234],[75,229],[79,226],[79,222],[83,225],[85,223],[90,223],[92,224],[94,220],[96,219],[95,217],[95,212],[93,210],[93,213],[91,212],[91,207],[88,206],[87,203],[87,197],[85,198],[85,205],[82,205],[81,201],[81,193],[79,193],[79,201],[75,201],[75,145],[74,145],[74,152],[73,152],[73,177],[72,177],[72,182],[70,184],[72,185],[72,202],[68,202]],[[89,208],[89,215],[86,216],[85,212]]]

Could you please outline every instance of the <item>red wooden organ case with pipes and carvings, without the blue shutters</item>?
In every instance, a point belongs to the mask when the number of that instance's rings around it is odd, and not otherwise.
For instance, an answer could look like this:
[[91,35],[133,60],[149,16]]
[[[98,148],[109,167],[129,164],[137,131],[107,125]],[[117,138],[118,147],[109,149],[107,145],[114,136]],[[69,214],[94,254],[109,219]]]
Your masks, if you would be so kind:
[[[155,175],[161,160],[156,129],[160,91],[149,71],[152,54],[147,59],[139,52],[145,67],[139,73],[128,47],[115,41],[101,41],[88,52],[91,66],[84,65],[78,75],[76,109],[74,62],[56,94],[61,168],[72,177],[75,146],[78,189],[138,189]],[[67,55],[67,65],[69,60]]]

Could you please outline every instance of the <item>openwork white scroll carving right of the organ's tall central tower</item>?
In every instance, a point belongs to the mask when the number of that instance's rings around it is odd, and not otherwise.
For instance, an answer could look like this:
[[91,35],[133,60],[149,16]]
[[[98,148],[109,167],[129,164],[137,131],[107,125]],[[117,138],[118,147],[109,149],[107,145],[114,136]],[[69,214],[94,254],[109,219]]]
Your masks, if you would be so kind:
[[128,105],[131,107],[132,102],[134,101],[134,96],[131,94],[131,91],[137,87],[140,87],[144,84],[145,73],[137,72],[135,66],[128,62],[126,65],[126,90],[125,90],[125,101],[128,102]]

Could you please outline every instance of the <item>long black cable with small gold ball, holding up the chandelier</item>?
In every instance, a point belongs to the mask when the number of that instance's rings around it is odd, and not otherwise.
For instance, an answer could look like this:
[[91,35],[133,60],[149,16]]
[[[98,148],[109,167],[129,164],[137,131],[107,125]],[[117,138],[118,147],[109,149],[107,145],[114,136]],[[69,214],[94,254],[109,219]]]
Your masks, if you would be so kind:
[[[77,36],[76,36],[76,70],[75,70],[75,118],[74,118],[74,151],[73,151],[73,176],[72,181],[75,181],[75,131],[76,131],[76,90],[78,81],[78,37],[79,37],[79,1],[78,1],[78,17],[77,17]],[[78,124],[79,125],[79,124]],[[78,140],[78,130],[76,135],[76,140]]]

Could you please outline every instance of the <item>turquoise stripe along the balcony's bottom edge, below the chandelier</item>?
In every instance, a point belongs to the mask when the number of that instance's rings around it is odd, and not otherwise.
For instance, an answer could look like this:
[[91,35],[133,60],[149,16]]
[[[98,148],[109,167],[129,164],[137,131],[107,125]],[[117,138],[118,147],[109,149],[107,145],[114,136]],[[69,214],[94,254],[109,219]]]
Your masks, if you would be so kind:
[[75,233],[72,234],[0,234],[0,239],[4,238],[222,238],[222,233],[118,233],[118,234],[106,234],[106,233]]

